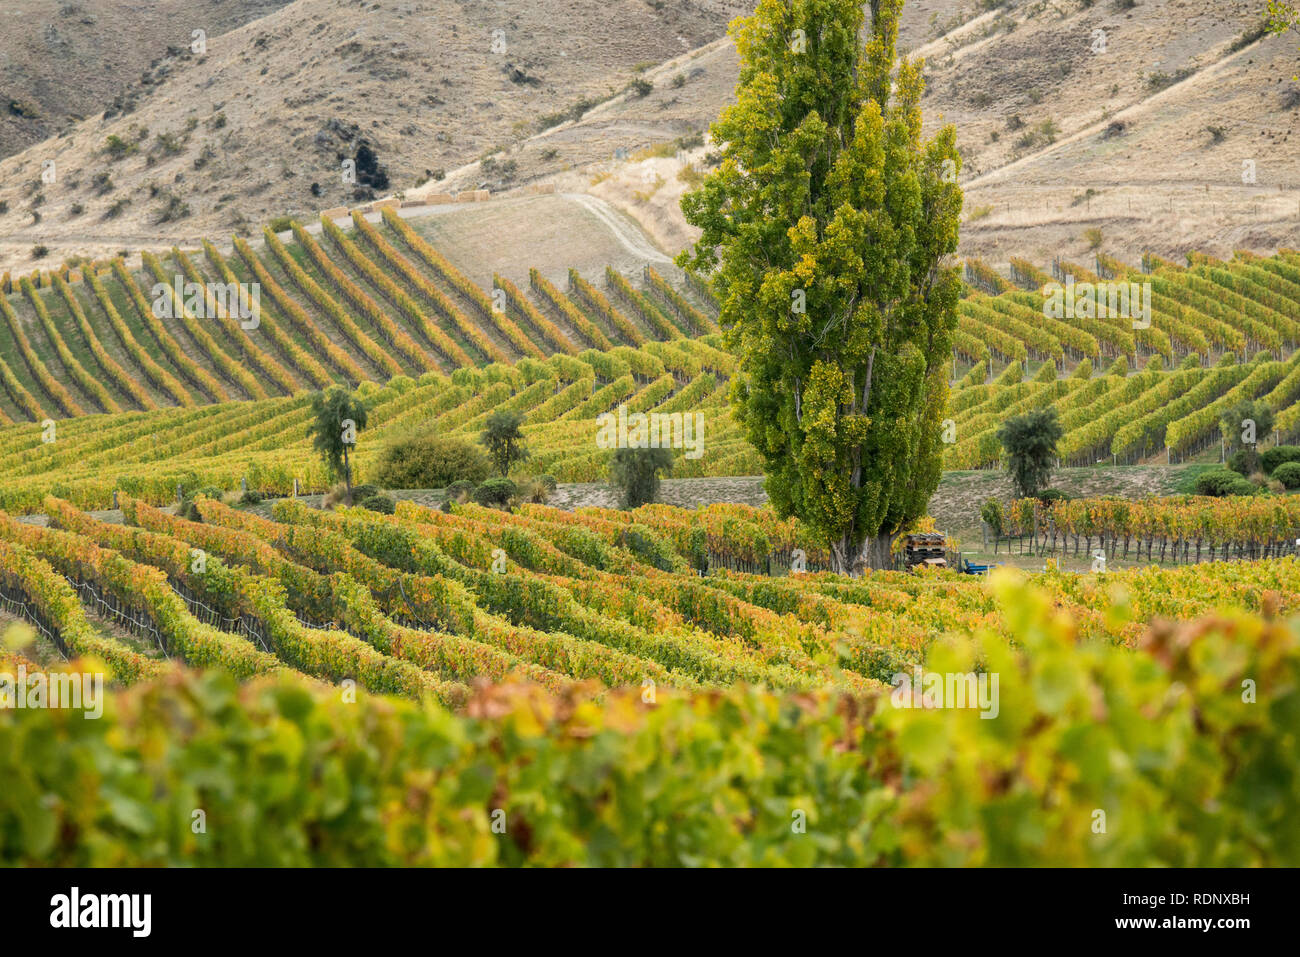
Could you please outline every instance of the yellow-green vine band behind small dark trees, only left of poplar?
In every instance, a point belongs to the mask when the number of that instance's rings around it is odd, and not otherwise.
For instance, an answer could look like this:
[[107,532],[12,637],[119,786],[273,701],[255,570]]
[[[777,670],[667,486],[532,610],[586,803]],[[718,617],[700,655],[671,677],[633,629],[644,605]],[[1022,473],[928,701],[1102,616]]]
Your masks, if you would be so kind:
[[[477,438],[486,416],[517,408],[528,420],[528,473],[559,481],[603,481],[610,451],[597,445],[597,416],[625,403],[633,412],[689,415],[701,424],[699,458],[680,458],[675,475],[753,475],[750,446],[732,424],[723,384],[732,359],[716,338],[649,342],[640,350],[584,350],[545,361],[425,372],[385,385],[363,382],[369,426],[358,439],[358,475],[390,436],[432,426]],[[290,494],[329,488],[307,439],[309,395],[162,407],[113,416],[79,416],[48,428],[0,428],[9,454],[0,458],[0,507],[39,511],[53,493],[86,508],[112,506],[113,493],[151,503],[174,501],[177,486],[239,488]],[[677,428],[680,433],[680,419]]]

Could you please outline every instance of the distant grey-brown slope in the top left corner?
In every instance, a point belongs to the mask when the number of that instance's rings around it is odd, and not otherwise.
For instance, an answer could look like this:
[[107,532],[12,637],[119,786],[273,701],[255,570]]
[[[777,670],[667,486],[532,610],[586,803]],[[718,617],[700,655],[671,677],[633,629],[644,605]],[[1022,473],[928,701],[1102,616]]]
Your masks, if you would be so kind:
[[131,108],[188,53],[290,0],[4,0],[0,157]]

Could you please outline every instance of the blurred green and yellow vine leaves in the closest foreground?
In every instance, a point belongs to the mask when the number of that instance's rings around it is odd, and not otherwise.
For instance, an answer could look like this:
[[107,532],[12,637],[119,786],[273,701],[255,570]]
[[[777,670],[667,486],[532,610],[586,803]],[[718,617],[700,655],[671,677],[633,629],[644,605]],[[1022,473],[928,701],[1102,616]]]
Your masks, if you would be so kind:
[[0,861],[1300,863],[1300,623],[1265,596],[1127,649],[1080,641],[1011,572],[993,588],[1014,641],[954,637],[927,667],[997,674],[996,719],[508,683],[452,714],[185,670],[110,692],[101,720],[0,710]]

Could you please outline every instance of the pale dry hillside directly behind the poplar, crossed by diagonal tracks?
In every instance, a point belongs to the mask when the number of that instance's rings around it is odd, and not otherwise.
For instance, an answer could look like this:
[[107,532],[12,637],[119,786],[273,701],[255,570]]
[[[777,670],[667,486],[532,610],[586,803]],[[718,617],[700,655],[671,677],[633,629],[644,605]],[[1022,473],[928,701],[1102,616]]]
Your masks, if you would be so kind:
[[[983,7],[909,3],[901,31],[927,60],[927,124],[958,127],[966,254],[1083,259],[1093,229],[1104,250],[1134,261],[1144,250],[1300,242],[1300,140],[1288,142],[1300,56],[1294,36],[1258,35],[1256,0]],[[525,179],[549,174],[552,150],[590,164],[558,186],[606,199],[677,250],[693,235],[677,205],[693,174],[677,148],[732,99],[736,72],[725,39],[690,51],[646,74],[649,96],[603,104],[497,161],[515,160]],[[684,159],[699,168],[708,152]],[[1243,182],[1245,160],[1254,183]],[[452,182],[481,176],[472,166]]]

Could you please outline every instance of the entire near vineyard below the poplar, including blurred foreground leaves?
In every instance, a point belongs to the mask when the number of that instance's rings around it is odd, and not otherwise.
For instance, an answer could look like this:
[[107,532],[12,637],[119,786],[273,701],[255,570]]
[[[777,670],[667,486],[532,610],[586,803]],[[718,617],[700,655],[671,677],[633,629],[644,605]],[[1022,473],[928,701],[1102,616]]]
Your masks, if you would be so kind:
[[[1294,827],[1292,802],[1232,797],[1284,746],[1283,727],[1269,709],[1231,703],[1244,674],[1274,709],[1294,710],[1300,636],[1277,619],[1300,607],[1295,558],[1048,572],[1028,585],[1000,576],[992,588],[952,573],[699,577],[706,555],[789,549],[797,534],[770,512],[734,506],[507,514],[402,503],[380,516],[282,502],[268,520],[200,498],[202,523],[135,499],[124,506],[125,525],[58,499],[43,506],[49,527],[0,515],[5,607],[36,624],[56,661],[101,662],[117,685],[133,687],[114,694],[107,722],[57,710],[0,722],[9,781],[0,820],[31,822],[38,807],[49,818],[39,832],[0,828],[6,861],[1295,862],[1297,844],[1279,836],[1283,822]],[[1158,619],[1197,620],[1148,627]],[[963,671],[976,658],[1001,674],[1010,724],[884,705],[892,674],[922,662]],[[12,653],[0,663],[38,667]],[[182,663],[217,671],[177,672]],[[455,714],[364,696],[339,703],[328,685],[348,681]],[[707,689],[722,690],[699,693]],[[165,733],[146,731],[160,719]],[[277,722],[302,726],[294,740],[306,753],[280,754],[289,739],[260,729]],[[127,744],[136,735],[155,744]],[[364,758],[351,754],[361,739]],[[8,757],[36,740],[66,761],[121,748],[90,784],[113,800],[35,801],[73,780],[49,776],[48,762]],[[268,788],[218,793],[191,781],[186,768],[211,767],[217,741],[235,778],[272,766],[280,779],[303,775],[277,792],[294,794],[294,810],[277,811]],[[1050,809],[1030,800],[1041,783],[1027,752],[1067,781]],[[153,757],[139,765],[144,753]],[[618,783],[593,759],[623,768]],[[318,801],[330,787],[306,780],[343,766],[364,785],[328,810]],[[437,788],[426,805],[395,797],[411,793],[412,775]],[[560,779],[566,798],[542,800]],[[468,780],[478,785],[467,791]],[[1219,840],[1161,840],[1197,826],[1187,815],[1201,814],[1191,809],[1202,787],[1231,809],[1217,817]],[[662,806],[670,796],[672,809]],[[715,813],[719,800],[731,813]],[[124,801],[140,802],[130,818]],[[403,817],[374,814],[372,801]],[[961,841],[924,837],[931,826],[958,827],[972,801],[988,813],[961,828]],[[214,843],[176,823],[195,802],[216,823]],[[1087,840],[1098,805],[1117,826]],[[117,810],[77,810],[105,806]],[[1035,827],[1009,836],[998,807]],[[1141,823],[1122,824],[1138,807]],[[511,836],[489,827],[493,809],[515,822]],[[790,828],[801,813],[818,840]],[[377,833],[381,818],[398,831]],[[650,840],[649,820],[673,820],[690,836]],[[285,840],[238,843],[247,827]],[[430,828],[438,840],[417,836]],[[311,841],[299,837],[308,830]],[[1274,837],[1244,839],[1264,831]]]

